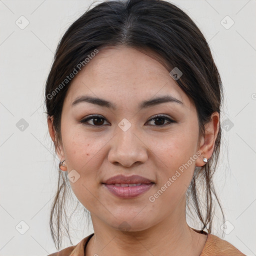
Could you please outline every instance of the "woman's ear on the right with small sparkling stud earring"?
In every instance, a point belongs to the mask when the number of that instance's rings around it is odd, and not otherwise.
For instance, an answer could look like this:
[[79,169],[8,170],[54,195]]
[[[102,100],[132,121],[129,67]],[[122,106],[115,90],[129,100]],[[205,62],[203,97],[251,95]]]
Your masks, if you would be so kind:
[[200,157],[195,160],[195,166],[203,166],[205,162],[203,157],[209,159],[212,155],[215,140],[218,134],[219,127],[219,114],[218,112],[213,112],[211,115],[211,120],[204,125],[205,135],[200,139],[200,145],[198,151],[201,152]]

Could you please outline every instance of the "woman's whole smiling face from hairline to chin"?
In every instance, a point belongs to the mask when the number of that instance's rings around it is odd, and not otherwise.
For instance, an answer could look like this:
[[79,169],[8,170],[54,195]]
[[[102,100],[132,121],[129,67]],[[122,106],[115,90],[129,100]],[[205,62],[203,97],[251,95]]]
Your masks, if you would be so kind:
[[[101,101],[78,102],[82,97]],[[180,102],[154,101],[160,97]],[[137,231],[184,216],[185,192],[202,159],[197,114],[154,58],[125,46],[99,50],[67,91],[61,138],[59,158],[65,159],[72,190],[92,220]],[[118,174],[125,176],[113,181],[118,184],[104,184]],[[150,183],[128,182],[131,175]],[[125,180],[135,185],[127,187]]]

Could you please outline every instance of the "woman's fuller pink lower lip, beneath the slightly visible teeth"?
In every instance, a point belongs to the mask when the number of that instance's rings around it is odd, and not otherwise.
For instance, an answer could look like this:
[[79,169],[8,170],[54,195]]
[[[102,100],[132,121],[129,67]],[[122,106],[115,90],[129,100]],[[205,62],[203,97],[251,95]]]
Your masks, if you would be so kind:
[[120,198],[134,198],[148,189],[153,185],[153,183],[149,184],[141,184],[139,186],[115,186],[113,184],[103,184],[112,194],[120,197]]

